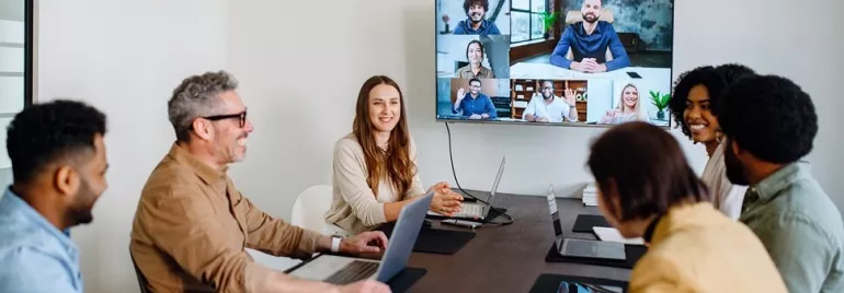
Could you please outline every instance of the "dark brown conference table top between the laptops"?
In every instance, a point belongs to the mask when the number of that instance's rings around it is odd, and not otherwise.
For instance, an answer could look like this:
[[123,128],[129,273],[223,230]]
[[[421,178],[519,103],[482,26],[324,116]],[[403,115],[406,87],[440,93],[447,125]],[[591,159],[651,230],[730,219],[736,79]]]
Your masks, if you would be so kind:
[[[595,239],[591,233],[574,233],[571,228],[578,214],[598,214],[596,208],[584,207],[578,198],[558,198],[557,204],[563,235]],[[424,268],[427,273],[407,292],[528,292],[541,273],[629,279],[629,269],[546,262],[555,236],[545,197],[497,194],[493,206],[507,209],[513,223],[475,228],[475,238],[454,255],[413,253],[408,266]],[[471,231],[442,225],[440,221],[434,221],[432,227]]]

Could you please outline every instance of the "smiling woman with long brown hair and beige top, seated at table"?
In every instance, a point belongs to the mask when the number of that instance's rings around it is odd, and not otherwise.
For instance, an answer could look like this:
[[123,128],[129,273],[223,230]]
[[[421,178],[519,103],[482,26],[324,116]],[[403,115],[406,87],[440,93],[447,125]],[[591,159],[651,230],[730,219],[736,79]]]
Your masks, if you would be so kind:
[[[388,77],[361,86],[352,133],[334,145],[333,202],[326,221],[333,233],[357,234],[398,219],[425,190],[417,172],[417,145],[408,131],[404,96]],[[454,215],[463,197],[448,184],[431,186],[431,211]]]

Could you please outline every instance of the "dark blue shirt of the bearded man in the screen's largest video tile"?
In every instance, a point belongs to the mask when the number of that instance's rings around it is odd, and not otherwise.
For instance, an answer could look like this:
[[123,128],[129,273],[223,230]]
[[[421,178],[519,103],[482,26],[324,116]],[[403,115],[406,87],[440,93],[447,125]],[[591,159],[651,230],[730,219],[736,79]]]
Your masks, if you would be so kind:
[[[606,49],[613,54],[613,60],[606,61]],[[598,21],[595,31],[591,35],[583,28],[583,22],[570,24],[562,33],[560,42],[554,48],[551,54],[551,65],[570,69],[572,60],[566,59],[569,52],[574,57],[573,61],[580,62],[583,58],[595,58],[597,63],[606,63],[606,71],[630,66],[630,59],[627,51],[618,39],[618,34],[613,28],[613,24]]]

